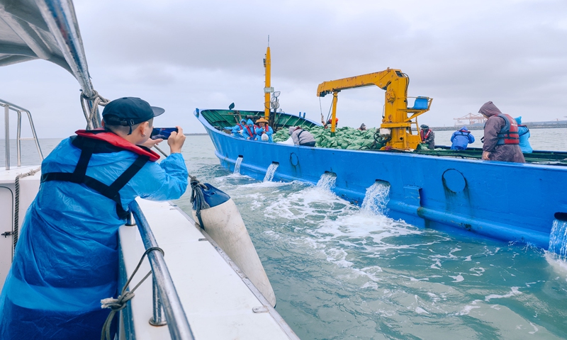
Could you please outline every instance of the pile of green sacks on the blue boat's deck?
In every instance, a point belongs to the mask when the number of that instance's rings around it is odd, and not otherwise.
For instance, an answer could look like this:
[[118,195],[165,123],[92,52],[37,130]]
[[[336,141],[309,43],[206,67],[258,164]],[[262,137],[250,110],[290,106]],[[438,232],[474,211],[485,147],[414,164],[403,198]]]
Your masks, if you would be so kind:
[[[355,128],[337,128],[335,137],[331,137],[331,129],[323,129],[322,126],[304,127],[303,130],[311,132],[315,137],[316,147],[328,147],[332,149],[366,150],[374,145],[374,132],[376,128],[361,131]],[[283,142],[289,138],[289,127],[281,128],[272,136],[274,142]]]

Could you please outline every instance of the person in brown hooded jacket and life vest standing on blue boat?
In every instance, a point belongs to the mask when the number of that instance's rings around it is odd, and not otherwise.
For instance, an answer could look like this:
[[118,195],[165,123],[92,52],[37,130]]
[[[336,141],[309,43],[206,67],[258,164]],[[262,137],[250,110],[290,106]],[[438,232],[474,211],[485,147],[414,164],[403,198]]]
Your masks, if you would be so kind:
[[498,110],[492,101],[484,103],[478,112],[488,118],[484,124],[483,159],[525,163],[514,118]]

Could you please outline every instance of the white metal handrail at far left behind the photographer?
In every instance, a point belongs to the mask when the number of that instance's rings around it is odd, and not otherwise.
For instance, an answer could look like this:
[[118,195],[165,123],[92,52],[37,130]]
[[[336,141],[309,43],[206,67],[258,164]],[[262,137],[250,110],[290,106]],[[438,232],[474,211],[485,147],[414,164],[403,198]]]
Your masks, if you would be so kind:
[[[18,127],[16,130],[16,155],[17,155],[17,162],[18,166],[22,165],[22,155],[21,155],[21,141],[22,140],[34,140],[35,147],[38,149],[38,154],[40,156],[40,160],[43,161],[43,152],[41,152],[40,142],[38,140],[38,135],[35,133],[35,126],[33,125],[33,119],[31,118],[31,113],[29,110],[17,106],[9,101],[4,101],[0,99],[0,106],[4,107],[4,140],[5,140],[5,149],[6,149],[6,170],[10,170],[10,110],[16,111],[18,114]],[[22,138],[21,137],[21,130],[22,130],[22,112],[25,112],[28,115],[28,120],[30,122],[31,133],[33,137],[30,138]]]

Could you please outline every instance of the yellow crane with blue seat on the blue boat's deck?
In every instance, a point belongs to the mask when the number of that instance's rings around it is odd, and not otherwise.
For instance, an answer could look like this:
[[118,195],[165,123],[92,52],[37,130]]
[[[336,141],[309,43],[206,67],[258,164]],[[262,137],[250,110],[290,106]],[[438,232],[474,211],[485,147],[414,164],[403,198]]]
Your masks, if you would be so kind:
[[[331,135],[335,135],[335,117],[337,115],[338,94],[342,90],[365,86],[378,86],[386,91],[384,111],[379,134],[386,146],[395,149],[416,149],[420,144],[420,135],[412,133],[412,124],[416,130],[417,116],[430,110],[432,98],[408,97],[410,78],[399,69],[386,69],[382,72],[363,74],[357,77],[325,81],[319,84],[317,96],[332,94]],[[412,108],[408,108],[408,98],[415,98]],[[412,121],[413,120],[413,121]]]

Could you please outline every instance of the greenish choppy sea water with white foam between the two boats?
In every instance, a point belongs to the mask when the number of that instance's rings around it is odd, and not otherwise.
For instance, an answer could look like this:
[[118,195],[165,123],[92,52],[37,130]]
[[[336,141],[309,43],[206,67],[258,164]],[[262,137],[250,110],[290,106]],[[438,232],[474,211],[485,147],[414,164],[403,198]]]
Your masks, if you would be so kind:
[[[545,131],[567,133],[532,136]],[[41,142],[47,154],[58,140]],[[208,136],[188,136],[184,156],[189,174],[235,200],[276,310],[301,339],[567,339],[567,264],[556,254],[392,220],[382,183],[359,207],[332,193],[332,174],[317,186],[231,174]],[[190,194],[177,201],[186,212]]]

